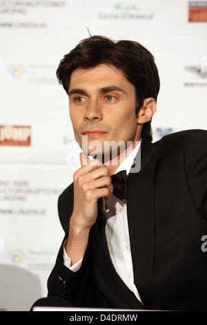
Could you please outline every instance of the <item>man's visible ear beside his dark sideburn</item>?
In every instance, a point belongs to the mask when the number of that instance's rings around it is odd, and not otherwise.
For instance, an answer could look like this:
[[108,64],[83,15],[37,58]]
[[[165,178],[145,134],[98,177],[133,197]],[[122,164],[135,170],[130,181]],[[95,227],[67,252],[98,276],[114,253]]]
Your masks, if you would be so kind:
[[141,109],[139,109],[137,115],[138,124],[144,124],[146,122],[149,122],[152,119],[152,116],[155,114],[156,109],[157,104],[155,102],[155,99],[152,97],[145,98],[144,103],[141,106]]

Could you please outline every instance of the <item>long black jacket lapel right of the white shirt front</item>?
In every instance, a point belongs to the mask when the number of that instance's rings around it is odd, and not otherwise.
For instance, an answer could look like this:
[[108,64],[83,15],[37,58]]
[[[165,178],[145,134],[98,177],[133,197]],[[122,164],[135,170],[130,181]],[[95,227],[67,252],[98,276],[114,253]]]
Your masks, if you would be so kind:
[[156,145],[141,140],[141,170],[128,174],[127,214],[134,282],[141,300],[150,308],[150,290],[154,260],[153,183],[157,161]]

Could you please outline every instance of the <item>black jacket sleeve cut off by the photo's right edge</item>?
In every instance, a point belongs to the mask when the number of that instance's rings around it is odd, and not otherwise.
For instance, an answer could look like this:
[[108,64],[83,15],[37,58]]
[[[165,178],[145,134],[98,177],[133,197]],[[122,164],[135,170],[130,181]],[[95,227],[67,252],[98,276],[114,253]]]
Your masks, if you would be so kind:
[[184,164],[193,203],[199,214],[207,220],[207,131],[193,130],[189,134]]

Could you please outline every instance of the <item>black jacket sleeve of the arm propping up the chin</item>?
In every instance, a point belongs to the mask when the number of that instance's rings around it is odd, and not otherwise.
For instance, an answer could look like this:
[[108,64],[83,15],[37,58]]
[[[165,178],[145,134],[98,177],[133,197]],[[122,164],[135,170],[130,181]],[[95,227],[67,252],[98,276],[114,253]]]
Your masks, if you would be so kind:
[[48,297],[61,297],[75,307],[95,306],[90,236],[81,268],[77,272],[72,272],[72,270],[63,265],[63,243],[68,237],[66,223],[69,225],[69,219],[67,218],[67,222],[63,222],[62,214],[64,210],[61,209],[61,196],[59,197],[58,210],[65,236],[57,254],[55,266],[48,278]]

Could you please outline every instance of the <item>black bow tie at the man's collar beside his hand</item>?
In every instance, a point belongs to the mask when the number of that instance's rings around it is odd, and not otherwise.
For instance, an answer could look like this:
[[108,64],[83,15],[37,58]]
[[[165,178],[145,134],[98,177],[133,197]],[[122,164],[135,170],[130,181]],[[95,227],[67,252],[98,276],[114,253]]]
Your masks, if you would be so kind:
[[127,174],[126,170],[121,170],[117,174],[113,174],[111,176],[112,185],[114,187],[115,196],[119,198],[119,200],[126,199],[126,187],[127,187]]

